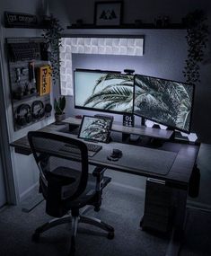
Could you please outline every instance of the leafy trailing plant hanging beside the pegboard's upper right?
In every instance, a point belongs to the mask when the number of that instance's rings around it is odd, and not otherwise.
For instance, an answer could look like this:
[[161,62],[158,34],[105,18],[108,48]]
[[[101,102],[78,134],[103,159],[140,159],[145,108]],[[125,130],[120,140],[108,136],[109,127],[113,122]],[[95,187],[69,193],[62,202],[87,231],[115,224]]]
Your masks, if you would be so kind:
[[52,79],[56,83],[60,72],[59,47],[61,46],[61,31],[63,31],[63,28],[52,13],[48,17],[46,27],[43,29],[42,36],[48,49],[48,61],[51,66]]

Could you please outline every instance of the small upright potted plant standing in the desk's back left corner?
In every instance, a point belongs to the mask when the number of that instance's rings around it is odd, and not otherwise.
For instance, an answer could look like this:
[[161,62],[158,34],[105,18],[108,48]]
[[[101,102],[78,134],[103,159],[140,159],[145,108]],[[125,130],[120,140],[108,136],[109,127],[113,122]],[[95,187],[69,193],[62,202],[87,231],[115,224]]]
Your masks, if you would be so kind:
[[66,97],[60,96],[58,99],[54,99],[54,110],[55,110],[55,120],[56,124],[60,124],[62,120],[66,119],[66,113],[64,112],[66,108]]

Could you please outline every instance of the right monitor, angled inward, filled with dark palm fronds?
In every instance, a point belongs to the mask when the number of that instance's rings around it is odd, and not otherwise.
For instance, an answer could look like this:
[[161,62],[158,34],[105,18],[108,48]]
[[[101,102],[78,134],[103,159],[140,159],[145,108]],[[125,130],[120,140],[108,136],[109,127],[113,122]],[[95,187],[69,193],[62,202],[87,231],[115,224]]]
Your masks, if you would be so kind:
[[193,84],[135,75],[134,85],[134,114],[189,133]]

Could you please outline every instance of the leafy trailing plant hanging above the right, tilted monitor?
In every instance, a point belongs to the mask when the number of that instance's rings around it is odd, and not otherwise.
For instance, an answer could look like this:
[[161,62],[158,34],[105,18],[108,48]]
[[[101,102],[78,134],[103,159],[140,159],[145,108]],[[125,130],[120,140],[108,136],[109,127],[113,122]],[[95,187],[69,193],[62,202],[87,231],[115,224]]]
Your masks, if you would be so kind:
[[208,40],[206,20],[207,17],[202,10],[196,10],[183,18],[183,23],[187,28],[186,40],[189,47],[183,75],[186,78],[186,82],[191,84],[200,82],[199,64],[204,59],[204,49],[207,47]]

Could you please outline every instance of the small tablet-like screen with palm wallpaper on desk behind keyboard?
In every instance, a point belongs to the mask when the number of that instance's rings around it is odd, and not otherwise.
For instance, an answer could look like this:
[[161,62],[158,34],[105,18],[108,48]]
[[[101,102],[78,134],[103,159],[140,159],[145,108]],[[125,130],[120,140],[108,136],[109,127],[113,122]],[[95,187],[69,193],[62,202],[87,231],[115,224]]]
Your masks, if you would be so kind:
[[78,137],[86,140],[108,142],[113,119],[84,116]]

